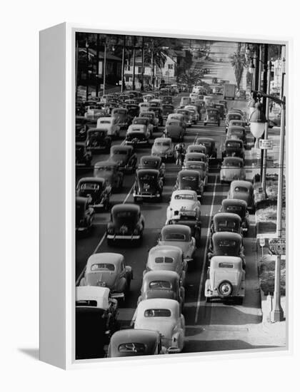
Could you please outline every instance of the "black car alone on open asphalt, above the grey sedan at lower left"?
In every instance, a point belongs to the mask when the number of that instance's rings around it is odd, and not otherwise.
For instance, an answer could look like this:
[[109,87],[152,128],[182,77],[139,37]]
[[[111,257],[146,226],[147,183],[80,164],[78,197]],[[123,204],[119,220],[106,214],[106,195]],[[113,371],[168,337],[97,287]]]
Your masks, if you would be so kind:
[[117,204],[111,209],[111,219],[106,229],[107,244],[115,245],[125,240],[140,243],[145,226],[139,205]]

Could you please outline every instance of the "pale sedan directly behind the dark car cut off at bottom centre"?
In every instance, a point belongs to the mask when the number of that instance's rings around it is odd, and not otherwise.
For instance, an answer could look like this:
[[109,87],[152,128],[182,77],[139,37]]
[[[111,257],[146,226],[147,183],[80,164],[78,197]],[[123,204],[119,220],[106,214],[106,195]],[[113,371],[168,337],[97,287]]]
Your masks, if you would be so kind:
[[175,299],[145,299],[136,308],[134,329],[159,331],[161,343],[169,354],[184,349],[185,320]]

